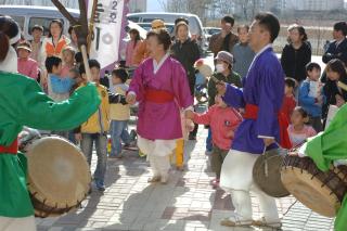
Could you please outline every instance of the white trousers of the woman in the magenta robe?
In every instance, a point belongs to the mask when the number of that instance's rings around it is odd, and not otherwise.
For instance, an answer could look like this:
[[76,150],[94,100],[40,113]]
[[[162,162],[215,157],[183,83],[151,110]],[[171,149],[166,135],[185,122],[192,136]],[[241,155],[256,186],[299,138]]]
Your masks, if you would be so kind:
[[139,136],[138,146],[147,155],[153,176],[167,177],[170,169],[170,155],[176,149],[176,140],[147,140]]

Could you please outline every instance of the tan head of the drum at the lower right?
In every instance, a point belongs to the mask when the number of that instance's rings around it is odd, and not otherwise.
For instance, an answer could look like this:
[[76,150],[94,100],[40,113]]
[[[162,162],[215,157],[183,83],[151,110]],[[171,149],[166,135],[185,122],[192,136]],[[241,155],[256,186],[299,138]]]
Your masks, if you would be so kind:
[[336,216],[340,207],[338,197],[310,172],[296,167],[283,167],[281,178],[286,189],[305,206],[325,217]]

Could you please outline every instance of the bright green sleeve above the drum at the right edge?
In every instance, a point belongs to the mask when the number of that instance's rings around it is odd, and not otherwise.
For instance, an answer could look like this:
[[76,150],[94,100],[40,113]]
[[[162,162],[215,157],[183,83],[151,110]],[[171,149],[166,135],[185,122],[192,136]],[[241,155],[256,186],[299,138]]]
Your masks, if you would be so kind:
[[340,107],[325,131],[310,138],[306,154],[319,169],[329,170],[333,161],[347,158],[347,104]]

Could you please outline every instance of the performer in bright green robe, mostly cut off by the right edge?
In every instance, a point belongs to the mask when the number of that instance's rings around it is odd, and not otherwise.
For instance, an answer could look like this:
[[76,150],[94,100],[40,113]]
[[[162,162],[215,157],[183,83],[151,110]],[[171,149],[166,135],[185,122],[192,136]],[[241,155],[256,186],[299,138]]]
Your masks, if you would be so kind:
[[[313,159],[317,167],[327,171],[332,164],[347,163],[347,104],[339,108],[327,129],[320,132],[303,146],[304,155]],[[335,230],[347,230],[347,195],[335,219]]]

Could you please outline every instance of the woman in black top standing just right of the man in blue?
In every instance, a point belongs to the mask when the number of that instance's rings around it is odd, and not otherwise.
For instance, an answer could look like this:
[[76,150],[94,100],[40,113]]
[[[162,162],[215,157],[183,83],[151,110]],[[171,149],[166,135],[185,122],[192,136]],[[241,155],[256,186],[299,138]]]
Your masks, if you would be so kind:
[[307,41],[305,28],[299,25],[288,27],[288,44],[283,48],[281,64],[286,77],[297,82],[306,79],[306,65],[311,62],[311,46]]

